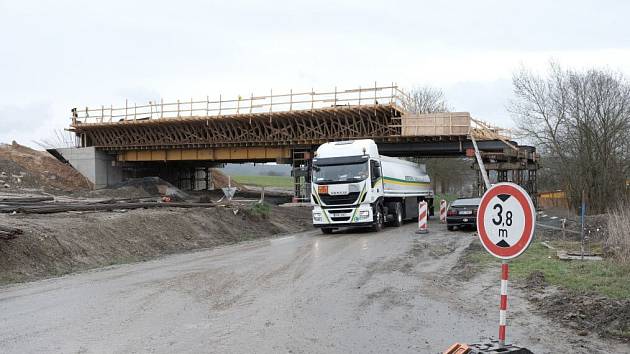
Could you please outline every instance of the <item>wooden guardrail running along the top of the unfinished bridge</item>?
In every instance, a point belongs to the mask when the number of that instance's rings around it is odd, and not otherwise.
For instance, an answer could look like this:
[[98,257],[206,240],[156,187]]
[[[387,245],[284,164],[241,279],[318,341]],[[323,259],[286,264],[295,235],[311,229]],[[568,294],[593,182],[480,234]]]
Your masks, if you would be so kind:
[[374,104],[397,104],[403,106],[409,101],[409,96],[392,84],[350,90],[315,92],[293,92],[249,97],[238,96],[236,99],[224,99],[219,95],[218,100],[177,100],[176,102],[149,101],[145,105],[100,108],[72,109],[72,124],[78,123],[108,123],[130,120],[147,120],[181,117],[220,117],[227,115],[242,115],[254,113],[291,112],[294,110],[313,110],[331,107],[366,106]]

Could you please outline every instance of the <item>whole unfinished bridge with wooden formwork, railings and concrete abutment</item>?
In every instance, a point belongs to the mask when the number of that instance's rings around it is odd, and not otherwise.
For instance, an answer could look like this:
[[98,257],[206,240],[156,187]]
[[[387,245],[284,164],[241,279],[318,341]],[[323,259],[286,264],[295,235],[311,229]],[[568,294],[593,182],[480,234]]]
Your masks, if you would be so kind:
[[[467,112],[415,114],[412,106],[392,84],[74,108],[69,130],[77,148],[53,153],[86,170],[98,187],[158,175],[180,188],[208,189],[208,169],[218,164],[286,163],[293,166],[296,197],[306,198],[310,159],[324,142],[367,138],[389,156],[471,157],[474,137],[497,181],[535,194],[534,148]],[[482,192],[481,179],[478,187]]]

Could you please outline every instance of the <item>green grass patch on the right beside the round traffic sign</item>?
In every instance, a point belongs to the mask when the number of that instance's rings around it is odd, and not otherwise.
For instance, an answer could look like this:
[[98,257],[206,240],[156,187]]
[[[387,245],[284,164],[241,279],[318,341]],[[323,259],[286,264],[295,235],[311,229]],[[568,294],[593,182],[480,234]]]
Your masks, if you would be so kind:
[[[579,292],[593,292],[615,299],[630,299],[630,266],[614,260],[561,261],[556,251],[540,242],[534,242],[525,253],[510,261],[510,278],[524,280],[531,273],[540,271],[551,285]],[[477,250],[467,260],[478,265],[500,263],[485,250]]]

